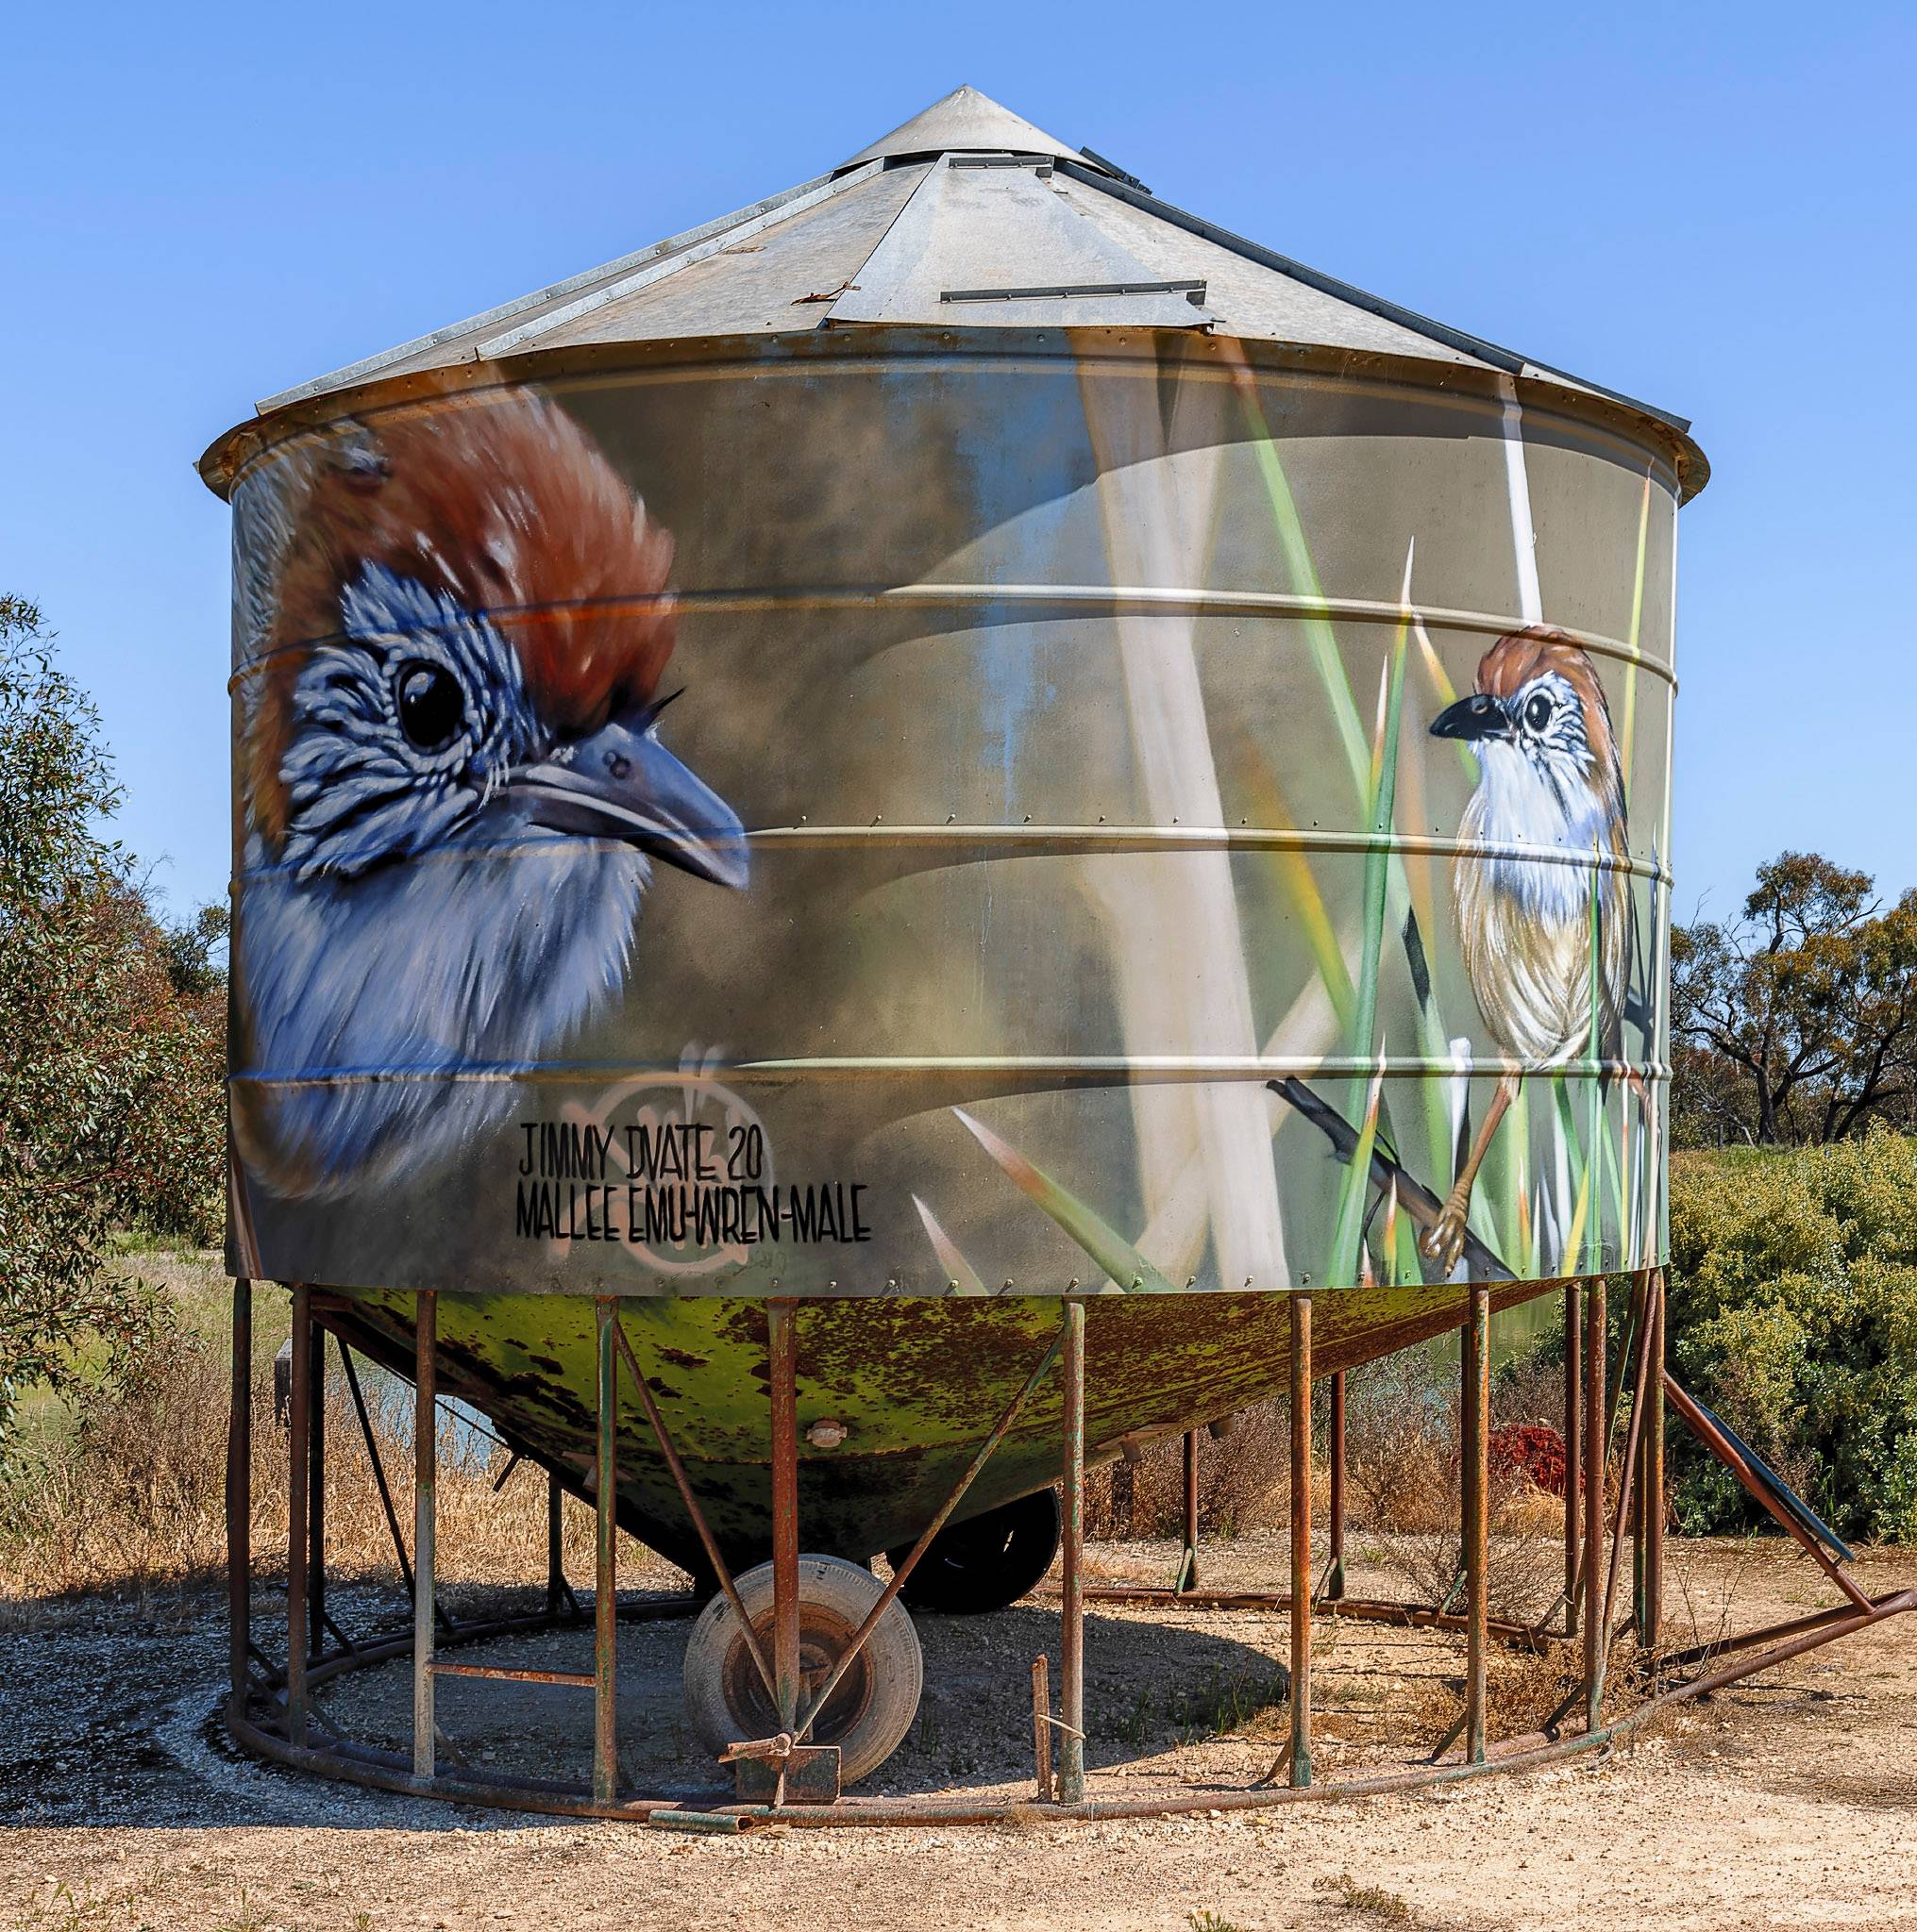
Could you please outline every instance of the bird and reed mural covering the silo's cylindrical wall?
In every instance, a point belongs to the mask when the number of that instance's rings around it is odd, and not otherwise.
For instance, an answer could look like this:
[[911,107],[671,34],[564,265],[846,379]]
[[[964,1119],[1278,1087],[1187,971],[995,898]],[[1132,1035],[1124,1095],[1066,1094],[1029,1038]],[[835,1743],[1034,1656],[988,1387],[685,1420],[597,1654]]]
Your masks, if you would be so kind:
[[1509,400],[1047,340],[734,350],[255,456],[236,1267],[1660,1258],[1668,469]]

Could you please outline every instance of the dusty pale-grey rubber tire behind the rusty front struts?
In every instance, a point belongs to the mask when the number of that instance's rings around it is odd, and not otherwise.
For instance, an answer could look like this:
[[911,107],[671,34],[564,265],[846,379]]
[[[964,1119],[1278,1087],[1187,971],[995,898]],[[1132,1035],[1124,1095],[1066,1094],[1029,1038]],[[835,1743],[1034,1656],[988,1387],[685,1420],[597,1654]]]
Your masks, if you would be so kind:
[[[767,1660],[773,1648],[773,1567],[761,1563],[736,1578],[740,1602]],[[885,1586],[870,1569],[843,1557],[798,1559],[800,1658],[808,1677],[837,1662],[852,1633],[872,1613]],[[719,1756],[727,1745],[773,1737],[779,1718],[746,1648],[738,1613],[715,1596],[686,1640],[686,1725],[700,1747]],[[926,1685],[918,1631],[904,1605],[887,1605],[872,1636],[833,1692],[806,1743],[839,1747],[839,1783],[870,1777],[906,1739]]]

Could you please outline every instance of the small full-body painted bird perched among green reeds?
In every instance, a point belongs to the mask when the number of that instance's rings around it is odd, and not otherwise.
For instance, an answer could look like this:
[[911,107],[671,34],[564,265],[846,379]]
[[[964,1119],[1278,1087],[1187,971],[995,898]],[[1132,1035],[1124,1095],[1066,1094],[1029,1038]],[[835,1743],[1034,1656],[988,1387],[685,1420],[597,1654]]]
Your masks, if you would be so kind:
[[[1610,707],[1585,649],[1563,632],[1500,638],[1478,663],[1476,690],[1432,721],[1434,738],[1463,738],[1478,755],[1453,862],[1457,929],[1478,1010],[1525,1068],[1561,1066],[1592,1049],[1621,1051],[1629,970],[1629,875],[1623,771]],[[1592,987],[1592,900],[1598,958]],[[1438,1221],[1420,1248],[1445,1273],[1457,1265],[1492,1134],[1517,1097],[1498,1080]]]

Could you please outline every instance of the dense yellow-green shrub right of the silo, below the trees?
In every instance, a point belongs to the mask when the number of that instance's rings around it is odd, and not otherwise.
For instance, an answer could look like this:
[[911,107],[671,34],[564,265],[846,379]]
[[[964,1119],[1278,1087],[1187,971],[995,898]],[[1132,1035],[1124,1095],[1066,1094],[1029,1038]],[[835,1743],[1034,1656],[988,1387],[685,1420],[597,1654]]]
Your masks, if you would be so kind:
[[[1917,1542],[1917,1140],[1672,1163],[1674,1374],[1845,1538]],[[1685,1432],[1679,1520],[1762,1520]]]

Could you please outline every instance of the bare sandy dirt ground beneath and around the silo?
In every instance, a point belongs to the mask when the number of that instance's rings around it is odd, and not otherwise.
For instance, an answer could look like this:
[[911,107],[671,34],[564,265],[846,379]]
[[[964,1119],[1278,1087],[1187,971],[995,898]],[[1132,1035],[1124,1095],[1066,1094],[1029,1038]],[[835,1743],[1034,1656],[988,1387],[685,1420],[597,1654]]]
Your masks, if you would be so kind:
[[[1362,1575],[1355,1588],[1368,1588]],[[1161,1577],[1169,1551],[1107,1546],[1113,1577]],[[1283,1548],[1229,1546],[1219,1584],[1281,1575]],[[1672,1546],[1677,1636],[1834,1602],[1776,1544]],[[1873,1592],[1917,1584],[1917,1553],[1867,1553]],[[371,1586],[336,1596],[371,1617]],[[390,1609],[390,1605],[386,1605]],[[280,1600],[255,1600],[271,1644]],[[1042,1602],[995,1619],[920,1619],[931,1694],[873,1785],[1030,1791],[1030,1658],[1057,1625]],[[659,1776],[674,1737],[667,1631],[622,1631],[628,1776]],[[678,1625],[678,1631],[684,1627]],[[1413,1797],[1287,1804],[1148,1824],[692,1837],[431,1804],[242,1758],[216,1719],[224,1604],[91,1602],[0,1634],[0,1922],[46,1932],[386,1932],[386,1928],[769,1926],[1264,1928],[1822,1926],[1917,1928],[1917,1617],[1813,1652],[1664,1718],[1602,1762]],[[582,1636],[537,1654],[574,1660]],[[570,1646],[570,1648],[568,1648]],[[528,1660],[535,1652],[497,1656]],[[1250,1613],[1088,1619],[1094,1795],[1187,1781],[1243,1789],[1283,1731],[1285,1619]],[[1451,1638],[1341,1625],[1316,1685],[1322,1770],[1407,1762],[1455,1708]],[[580,1660],[574,1660],[580,1662]],[[537,1704],[446,1694],[475,1762],[537,1752],[584,1768],[580,1692]],[[1496,1729],[1556,1700],[1552,1667],[1503,1660]],[[398,1735],[400,1671],[346,1679],[329,1721]],[[1527,1716],[1529,1714],[1529,1716]],[[537,1762],[537,1760],[535,1760]]]

